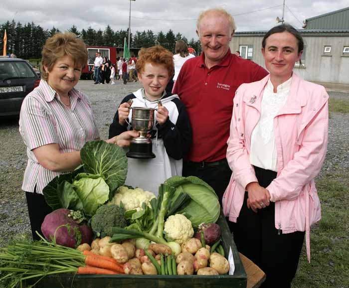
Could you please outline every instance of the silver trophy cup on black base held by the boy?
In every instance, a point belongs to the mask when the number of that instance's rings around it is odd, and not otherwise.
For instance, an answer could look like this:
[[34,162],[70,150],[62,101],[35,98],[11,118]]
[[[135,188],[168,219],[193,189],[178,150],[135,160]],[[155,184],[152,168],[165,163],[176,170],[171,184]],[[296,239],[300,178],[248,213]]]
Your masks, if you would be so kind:
[[152,152],[152,140],[147,138],[147,134],[152,130],[154,125],[154,108],[131,107],[132,128],[140,133],[130,144],[130,150],[126,153],[129,158],[149,159],[155,158]]

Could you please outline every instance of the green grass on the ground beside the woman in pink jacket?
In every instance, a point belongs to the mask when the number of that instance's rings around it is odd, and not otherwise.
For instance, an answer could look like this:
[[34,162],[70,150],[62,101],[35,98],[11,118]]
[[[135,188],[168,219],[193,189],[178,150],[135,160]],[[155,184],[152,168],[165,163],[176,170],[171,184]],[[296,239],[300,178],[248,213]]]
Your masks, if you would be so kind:
[[322,219],[312,226],[311,263],[305,244],[292,288],[349,288],[349,172],[317,180]]

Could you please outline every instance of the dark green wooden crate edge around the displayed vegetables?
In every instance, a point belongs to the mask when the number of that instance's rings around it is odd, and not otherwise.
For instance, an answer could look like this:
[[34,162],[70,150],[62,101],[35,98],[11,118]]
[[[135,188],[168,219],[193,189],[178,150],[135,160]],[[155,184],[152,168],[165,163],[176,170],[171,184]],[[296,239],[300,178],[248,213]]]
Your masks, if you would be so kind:
[[231,248],[234,257],[234,275],[214,276],[160,276],[160,275],[57,275],[44,277],[35,288],[246,288],[247,276],[229,231],[221,214],[217,224],[222,230],[226,257]]

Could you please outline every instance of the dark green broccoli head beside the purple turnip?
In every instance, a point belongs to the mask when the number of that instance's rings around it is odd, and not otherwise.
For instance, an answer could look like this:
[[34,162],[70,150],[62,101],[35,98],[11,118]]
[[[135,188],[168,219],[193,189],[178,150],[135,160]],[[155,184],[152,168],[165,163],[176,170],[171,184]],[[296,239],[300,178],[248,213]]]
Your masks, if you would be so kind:
[[125,209],[114,204],[100,206],[91,219],[91,228],[97,237],[113,236],[112,227],[126,226]]

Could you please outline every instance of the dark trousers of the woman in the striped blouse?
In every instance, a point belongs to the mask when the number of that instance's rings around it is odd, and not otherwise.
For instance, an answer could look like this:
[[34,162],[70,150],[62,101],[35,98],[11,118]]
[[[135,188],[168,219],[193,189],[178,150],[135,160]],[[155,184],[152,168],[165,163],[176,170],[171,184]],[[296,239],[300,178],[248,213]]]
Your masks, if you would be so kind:
[[29,220],[33,240],[40,240],[35,231],[41,235],[41,224],[45,216],[52,212],[52,208],[47,205],[42,194],[36,192],[25,192],[26,202],[28,206]]

